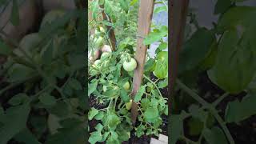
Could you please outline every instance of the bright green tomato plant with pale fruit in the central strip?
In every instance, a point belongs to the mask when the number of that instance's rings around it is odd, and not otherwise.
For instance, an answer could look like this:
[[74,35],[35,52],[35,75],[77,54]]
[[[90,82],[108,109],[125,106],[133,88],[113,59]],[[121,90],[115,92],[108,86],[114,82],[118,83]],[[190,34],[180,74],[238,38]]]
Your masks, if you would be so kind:
[[[102,6],[103,5],[103,6]],[[162,6],[166,6],[162,3]],[[104,7],[104,9],[102,9]],[[95,62],[88,62],[89,84],[88,96],[91,105],[88,115],[90,122],[95,126],[89,126],[90,143],[122,143],[142,135],[158,136],[162,132],[162,119],[168,115],[166,95],[162,90],[168,86],[168,54],[164,51],[167,42],[167,26],[152,25],[150,34],[145,38],[144,44],[160,42],[155,50],[155,58],[147,58],[144,67],[142,86],[134,96],[134,102],[138,104],[138,122],[135,126],[131,122],[131,92],[133,89],[134,70],[138,66],[134,58],[137,41],[138,1],[104,0],[90,2],[92,20],[90,29],[98,30],[102,27],[104,44],[102,47],[94,45],[90,39],[90,50],[101,50],[97,66]],[[167,10],[167,9],[165,9]],[[102,19],[106,13],[111,22]],[[156,13],[159,12],[156,11]],[[117,21],[118,19],[118,21]],[[108,34],[108,26],[114,30],[117,45],[115,50],[106,50],[112,45]],[[104,29],[104,30],[103,30]],[[97,31],[98,33],[98,31]],[[94,34],[89,34],[89,37]],[[107,51],[107,53],[106,53]],[[134,131],[134,132],[133,132]]]

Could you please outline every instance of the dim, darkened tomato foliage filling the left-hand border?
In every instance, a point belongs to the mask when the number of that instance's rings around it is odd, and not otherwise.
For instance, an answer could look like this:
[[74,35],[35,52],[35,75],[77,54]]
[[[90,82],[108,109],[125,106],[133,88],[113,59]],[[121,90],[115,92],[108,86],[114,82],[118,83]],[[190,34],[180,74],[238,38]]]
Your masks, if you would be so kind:
[[[13,2],[10,22],[16,26],[18,1]],[[6,56],[0,97],[7,102],[0,106],[1,144],[86,143],[83,13],[65,12],[22,42],[10,39],[11,46],[0,40],[0,54]]]

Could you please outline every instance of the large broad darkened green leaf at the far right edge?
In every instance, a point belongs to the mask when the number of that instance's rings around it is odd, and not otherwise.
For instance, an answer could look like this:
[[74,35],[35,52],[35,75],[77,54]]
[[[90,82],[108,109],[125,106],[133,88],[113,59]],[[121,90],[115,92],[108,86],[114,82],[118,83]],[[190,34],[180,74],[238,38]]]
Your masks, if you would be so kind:
[[219,43],[216,62],[210,72],[210,78],[222,90],[231,94],[240,93],[254,77],[256,71],[254,45],[256,44],[252,39],[253,34],[251,36],[248,34],[253,31],[256,29],[240,35],[237,30],[228,30]]

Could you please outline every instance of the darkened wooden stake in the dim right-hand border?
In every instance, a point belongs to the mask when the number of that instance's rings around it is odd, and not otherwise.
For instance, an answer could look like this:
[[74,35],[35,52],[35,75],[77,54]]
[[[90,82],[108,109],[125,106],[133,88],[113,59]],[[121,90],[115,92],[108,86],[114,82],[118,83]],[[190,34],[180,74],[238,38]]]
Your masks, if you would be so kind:
[[[170,97],[174,94],[174,84],[177,77],[178,69],[178,54],[182,47],[183,35],[186,26],[186,15],[188,10],[189,0],[171,0],[170,1],[170,49],[169,55],[169,86],[170,86],[170,96],[169,96],[169,114],[171,111],[171,100]],[[169,117],[170,118],[170,117]],[[170,123],[170,122],[169,122]]]

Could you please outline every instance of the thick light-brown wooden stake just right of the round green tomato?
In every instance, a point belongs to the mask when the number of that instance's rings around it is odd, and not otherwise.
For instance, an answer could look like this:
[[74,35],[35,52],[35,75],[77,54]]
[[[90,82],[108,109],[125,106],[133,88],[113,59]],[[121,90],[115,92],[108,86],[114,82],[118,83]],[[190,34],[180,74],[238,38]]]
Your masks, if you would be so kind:
[[[142,83],[143,70],[146,59],[147,46],[143,45],[143,37],[146,37],[150,33],[150,25],[152,20],[154,10],[154,0],[141,0],[138,12],[138,38],[137,38],[137,48],[135,59],[137,61],[137,68],[134,70],[133,79],[133,90],[132,99],[134,99],[135,94],[138,92],[139,87]],[[133,124],[135,124],[138,116],[138,105],[133,102],[131,107],[131,118]]]

